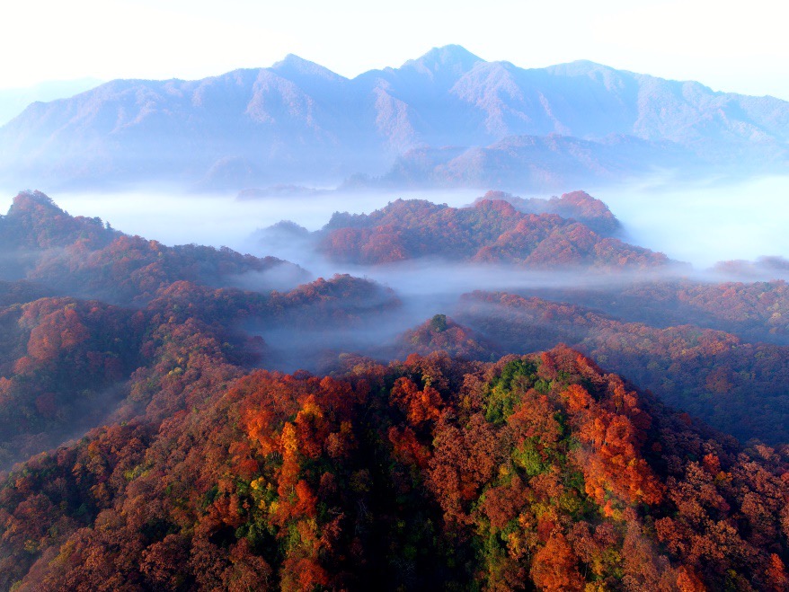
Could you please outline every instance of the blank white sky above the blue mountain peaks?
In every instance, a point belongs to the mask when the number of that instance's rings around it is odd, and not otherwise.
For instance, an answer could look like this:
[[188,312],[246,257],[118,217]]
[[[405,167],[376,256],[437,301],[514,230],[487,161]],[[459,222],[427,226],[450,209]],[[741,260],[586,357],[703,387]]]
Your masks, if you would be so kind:
[[591,59],[789,100],[787,17],[780,0],[13,2],[0,7],[0,88],[193,79],[288,53],[353,76],[458,43],[522,67]]

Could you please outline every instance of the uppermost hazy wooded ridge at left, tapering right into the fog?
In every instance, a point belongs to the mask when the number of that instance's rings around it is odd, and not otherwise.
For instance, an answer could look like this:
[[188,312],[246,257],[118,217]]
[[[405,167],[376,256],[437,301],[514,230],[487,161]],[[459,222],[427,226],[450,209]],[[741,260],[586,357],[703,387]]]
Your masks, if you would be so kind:
[[289,265],[122,234],[99,218],[69,216],[39,191],[20,193],[0,217],[0,252],[0,279],[26,278],[58,293],[118,304],[144,302],[178,280],[227,285],[244,273]]

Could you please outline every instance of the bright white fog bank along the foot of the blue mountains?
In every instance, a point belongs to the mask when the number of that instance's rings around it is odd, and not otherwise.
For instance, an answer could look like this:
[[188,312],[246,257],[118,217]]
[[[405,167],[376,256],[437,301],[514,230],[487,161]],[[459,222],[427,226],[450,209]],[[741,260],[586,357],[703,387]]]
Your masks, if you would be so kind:
[[[47,193],[46,188],[39,188]],[[495,188],[492,188],[495,189]],[[741,182],[682,183],[661,180],[584,189],[607,203],[625,227],[625,239],[672,259],[705,269],[716,261],[754,260],[760,256],[789,257],[789,176]],[[5,211],[15,191],[5,192]],[[323,193],[236,199],[235,194],[175,195],[161,190],[120,194],[50,194],[72,215],[99,216],[129,234],[166,244],[226,245],[250,251],[249,236],[257,228],[282,219],[309,230],[328,222],[334,211],[370,212],[397,199],[421,198],[450,206],[464,206],[482,190]],[[49,193],[48,193],[49,194]],[[519,193],[548,198],[549,194]],[[287,250],[286,250],[287,251]],[[298,261],[298,252],[279,254]]]

